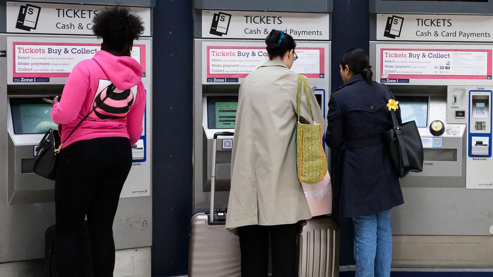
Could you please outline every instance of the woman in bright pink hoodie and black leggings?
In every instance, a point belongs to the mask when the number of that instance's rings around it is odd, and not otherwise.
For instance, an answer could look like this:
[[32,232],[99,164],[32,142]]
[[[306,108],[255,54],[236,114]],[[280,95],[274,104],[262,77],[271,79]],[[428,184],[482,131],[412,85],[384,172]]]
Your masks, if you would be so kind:
[[63,142],[55,181],[58,277],[81,270],[86,215],[94,276],[113,276],[113,219],[132,166],[131,145],[142,134],[142,67],[130,53],[143,23],[121,7],[98,13],[93,23],[101,51],[74,67],[52,109]]

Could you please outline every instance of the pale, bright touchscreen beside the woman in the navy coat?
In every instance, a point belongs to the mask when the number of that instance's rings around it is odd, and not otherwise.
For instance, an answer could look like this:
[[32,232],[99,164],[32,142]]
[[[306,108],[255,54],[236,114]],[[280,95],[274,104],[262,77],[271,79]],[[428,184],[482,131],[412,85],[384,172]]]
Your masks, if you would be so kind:
[[428,126],[428,96],[396,96],[402,122],[416,121],[418,127]]

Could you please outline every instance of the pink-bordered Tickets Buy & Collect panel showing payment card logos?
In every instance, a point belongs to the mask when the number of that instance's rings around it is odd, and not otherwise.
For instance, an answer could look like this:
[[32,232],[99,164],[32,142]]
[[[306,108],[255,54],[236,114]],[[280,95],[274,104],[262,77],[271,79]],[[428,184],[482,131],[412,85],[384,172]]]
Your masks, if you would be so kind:
[[491,80],[491,49],[381,48],[380,77]]

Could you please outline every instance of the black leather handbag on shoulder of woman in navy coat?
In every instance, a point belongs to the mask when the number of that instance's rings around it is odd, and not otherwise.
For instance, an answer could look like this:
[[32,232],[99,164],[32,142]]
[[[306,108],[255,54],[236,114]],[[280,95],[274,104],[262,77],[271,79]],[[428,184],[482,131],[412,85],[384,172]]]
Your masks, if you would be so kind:
[[[387,101],[391,99],[390,91],[386,85]],[[390,154],[392,166],[399,178],[404,178],[409,172],[423,171],[423,144],[415,121],[399,124],[395,112],[390,112],[393,128],[385,131],[383,137]]]

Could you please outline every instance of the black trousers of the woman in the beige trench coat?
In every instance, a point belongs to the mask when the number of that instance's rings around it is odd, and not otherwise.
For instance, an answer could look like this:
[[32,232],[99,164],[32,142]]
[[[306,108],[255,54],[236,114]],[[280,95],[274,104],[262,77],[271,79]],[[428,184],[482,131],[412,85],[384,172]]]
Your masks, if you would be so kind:
[[260,226],[238,228],[241,250],[241,276],[262,277],[269,271],[269,235],[272,249],[272,275],[295,277],[296,225]]

